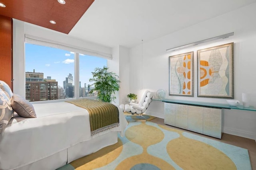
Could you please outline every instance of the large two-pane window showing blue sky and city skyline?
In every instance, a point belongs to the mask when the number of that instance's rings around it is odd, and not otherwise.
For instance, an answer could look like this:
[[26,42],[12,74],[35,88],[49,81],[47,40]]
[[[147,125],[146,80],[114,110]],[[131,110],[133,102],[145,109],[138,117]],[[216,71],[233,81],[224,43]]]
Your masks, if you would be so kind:
[[[107,60],[79,55],[79,96],[88,97],[89,78]],[[74,98],[75,53],[42,45],[25,44],[26,100],[42,101]],[[91,87],[90,87],[91,88]],[[89,90],[90,90],[89,88]],[[93,88],[93,87],[92,87]],[[95,96],[96,94],[94,94]]]

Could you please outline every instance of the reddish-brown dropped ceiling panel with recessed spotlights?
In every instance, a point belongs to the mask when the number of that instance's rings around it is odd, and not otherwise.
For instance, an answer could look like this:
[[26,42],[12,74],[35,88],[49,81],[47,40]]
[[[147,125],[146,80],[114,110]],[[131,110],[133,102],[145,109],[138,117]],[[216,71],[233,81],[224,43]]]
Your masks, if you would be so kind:
[[[0,15],[68,34],[94,0],[0,0]],[[56,24],[50,23],[50,20]]]

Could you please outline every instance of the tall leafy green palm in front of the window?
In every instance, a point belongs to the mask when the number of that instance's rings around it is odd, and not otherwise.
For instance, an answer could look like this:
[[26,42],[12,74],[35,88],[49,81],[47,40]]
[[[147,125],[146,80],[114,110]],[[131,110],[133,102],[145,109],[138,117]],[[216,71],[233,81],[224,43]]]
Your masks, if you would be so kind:
[[94,86],[89,93],[98,92],[98,100],[102,102],[112,102],[116,99],[115,92],[119,90],[120,80],[118,75],[114,72],[108,72],[108,67],[95,68],[92,72],[92,78],[89,82],[94,82],[91,86]]

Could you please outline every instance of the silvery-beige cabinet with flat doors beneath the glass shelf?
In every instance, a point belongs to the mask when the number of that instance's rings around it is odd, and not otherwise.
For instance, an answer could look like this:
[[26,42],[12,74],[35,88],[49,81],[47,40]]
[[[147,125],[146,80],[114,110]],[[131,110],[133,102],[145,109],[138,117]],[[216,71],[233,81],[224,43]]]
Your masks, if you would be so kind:
[[164,103],[164,123],[221,139],[222,109]]

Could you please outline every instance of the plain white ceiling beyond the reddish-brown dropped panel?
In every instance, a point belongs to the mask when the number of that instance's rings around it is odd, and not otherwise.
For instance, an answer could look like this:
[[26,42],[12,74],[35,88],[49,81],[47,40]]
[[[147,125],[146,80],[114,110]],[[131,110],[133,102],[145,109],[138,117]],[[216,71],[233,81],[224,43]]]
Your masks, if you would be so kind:
[[69,35],[134,47],[256,0],[95,0]]

